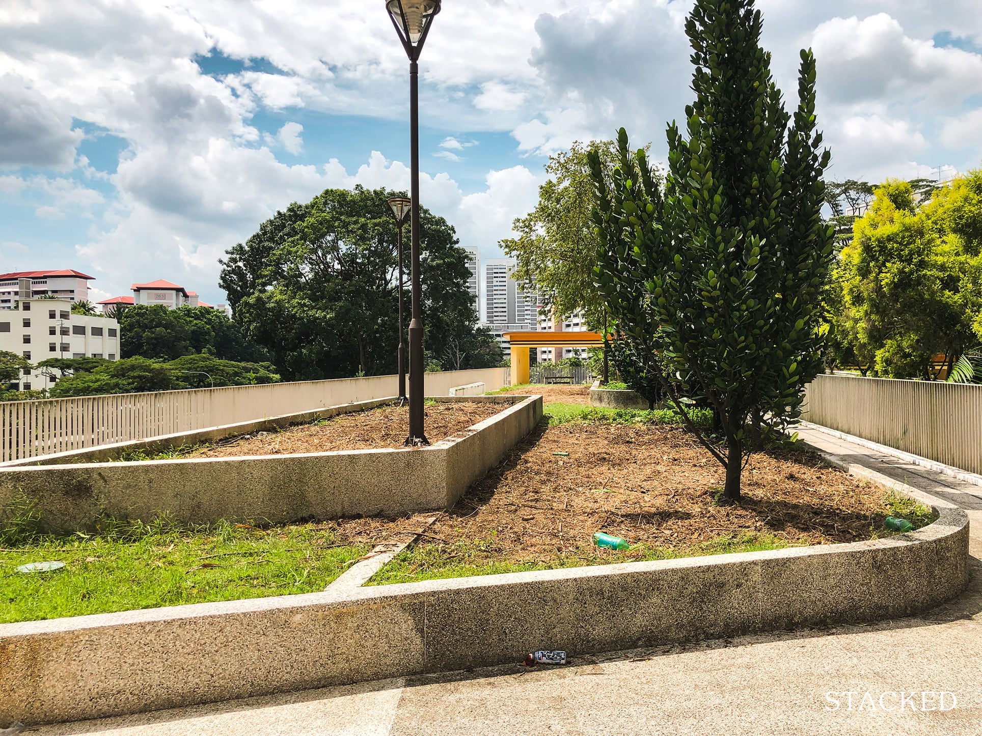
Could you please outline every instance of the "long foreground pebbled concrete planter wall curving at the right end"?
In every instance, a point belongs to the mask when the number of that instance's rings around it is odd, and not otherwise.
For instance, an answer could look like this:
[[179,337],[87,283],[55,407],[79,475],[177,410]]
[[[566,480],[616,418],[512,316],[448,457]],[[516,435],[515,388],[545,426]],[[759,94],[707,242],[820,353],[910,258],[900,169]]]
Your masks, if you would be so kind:
[[935,523],[872,542],[3,624],[0,721],[909,615],[967,583],[967,517],[930,500]]

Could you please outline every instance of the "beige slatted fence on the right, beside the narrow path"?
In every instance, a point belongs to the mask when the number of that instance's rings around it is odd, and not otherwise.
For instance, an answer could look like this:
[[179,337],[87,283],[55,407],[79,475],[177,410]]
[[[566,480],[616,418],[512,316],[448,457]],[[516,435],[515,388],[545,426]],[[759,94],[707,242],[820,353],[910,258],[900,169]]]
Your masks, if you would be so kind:
[[802,419],[982,473],[982,386],[817,376],[805,394]]

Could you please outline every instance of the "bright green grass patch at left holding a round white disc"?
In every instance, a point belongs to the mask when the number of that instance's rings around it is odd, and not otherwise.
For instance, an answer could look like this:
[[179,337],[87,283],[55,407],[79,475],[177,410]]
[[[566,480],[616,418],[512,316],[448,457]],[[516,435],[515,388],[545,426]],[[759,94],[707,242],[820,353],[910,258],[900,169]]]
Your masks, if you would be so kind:
[[[23,509],[22,509],[23,511]],[[367,552],[312,524],[259,529],[220,522],[182,529],[111,521],[71,537],[4,532],[0,623],[164,605],[236,601],[322,591]],[[9,530],[9,519],[3,527]],[[21,573],[28,562],[58,560],[61,570]]]

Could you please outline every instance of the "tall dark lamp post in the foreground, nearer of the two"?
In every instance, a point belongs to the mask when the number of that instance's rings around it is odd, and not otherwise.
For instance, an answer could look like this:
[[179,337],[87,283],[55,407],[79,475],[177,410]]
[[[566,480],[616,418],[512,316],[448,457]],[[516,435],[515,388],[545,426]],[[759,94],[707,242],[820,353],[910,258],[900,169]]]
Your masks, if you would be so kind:
[[409,147],[412,198],[412,321],[409,322],[409,437],[406,445],[429,445],[423,432],[423,317],[419,283],[419,54],[440,12],[440,0],[386,0],[392,25],[409,56]]

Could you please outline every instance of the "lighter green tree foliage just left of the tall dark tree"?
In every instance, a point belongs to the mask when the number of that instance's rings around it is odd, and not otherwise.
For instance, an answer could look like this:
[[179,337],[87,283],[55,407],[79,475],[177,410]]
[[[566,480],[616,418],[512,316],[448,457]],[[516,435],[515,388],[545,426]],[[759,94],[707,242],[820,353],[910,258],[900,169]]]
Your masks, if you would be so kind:
[[538,204],[513,224],[518,237],[499,244],[518,260],[518,281],[534,283],[553,314],[583,312],[586,323],[597,327],[603,324],[604,305],[593,284],[597,236],[590,217],[589,151],[608,162],[617,157],[610,140],[574,142],[569,151],[551,156],[546,164],[549,179],[539,187]]

